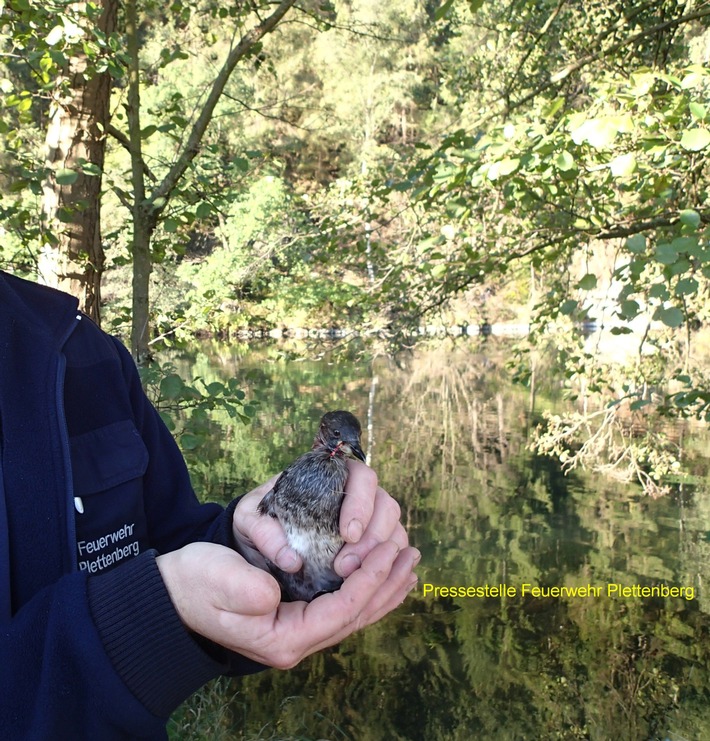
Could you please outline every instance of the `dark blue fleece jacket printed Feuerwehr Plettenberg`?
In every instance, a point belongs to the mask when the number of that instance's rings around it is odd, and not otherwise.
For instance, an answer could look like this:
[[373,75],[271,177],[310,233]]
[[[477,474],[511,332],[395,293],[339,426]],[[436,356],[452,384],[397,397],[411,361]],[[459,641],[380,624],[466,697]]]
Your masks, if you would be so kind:
[[[234,503],[233,503],[234,505]],[[207,680],[256,665],[194,639],[155,563],[231,542],[125,348],[75,299],[0,273],[0,735],[164,739]]]

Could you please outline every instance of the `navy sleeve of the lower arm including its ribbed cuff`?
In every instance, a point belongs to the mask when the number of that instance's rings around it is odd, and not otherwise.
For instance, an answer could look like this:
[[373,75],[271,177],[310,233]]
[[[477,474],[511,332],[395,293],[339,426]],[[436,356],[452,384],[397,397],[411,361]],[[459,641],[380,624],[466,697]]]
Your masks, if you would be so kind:
[[0,652],[13,739],[163,739],[169,714],[228,668],[180,623],[154,552],[45,588],[3,625]]

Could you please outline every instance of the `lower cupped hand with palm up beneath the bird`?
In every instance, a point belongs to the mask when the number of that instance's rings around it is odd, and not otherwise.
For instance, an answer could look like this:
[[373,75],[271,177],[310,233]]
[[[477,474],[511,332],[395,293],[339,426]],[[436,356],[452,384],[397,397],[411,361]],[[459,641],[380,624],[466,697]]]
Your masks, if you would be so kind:
[[340,589],[313,602],[281,602],[276,580],[235,551],[191,543],[156,562],[181,620],[243,656],[288,669],[397,607],[415,586],[414,548],[369,550]]

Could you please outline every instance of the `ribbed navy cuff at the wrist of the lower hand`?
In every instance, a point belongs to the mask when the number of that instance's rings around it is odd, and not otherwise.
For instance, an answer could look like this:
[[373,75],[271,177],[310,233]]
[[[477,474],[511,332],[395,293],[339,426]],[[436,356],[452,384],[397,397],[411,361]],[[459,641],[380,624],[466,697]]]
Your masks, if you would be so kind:
[[167,718],[210,679],[229,670],[193,640],[147,551],[88,580],[89,608],[116,673],[154,715]]

